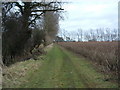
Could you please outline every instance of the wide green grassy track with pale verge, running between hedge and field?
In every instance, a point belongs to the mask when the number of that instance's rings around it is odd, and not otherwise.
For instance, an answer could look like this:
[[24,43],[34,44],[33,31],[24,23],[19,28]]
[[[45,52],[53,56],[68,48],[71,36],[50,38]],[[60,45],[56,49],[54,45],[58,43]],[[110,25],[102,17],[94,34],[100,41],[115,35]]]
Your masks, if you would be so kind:
[[[104,75],[98,73],[85,60],[72,52],[54,46],[44,60],[26,61],[11,70],[20,71],[26,67],[23,76],[5,78],[4,87],[19,88],[115,88],[117,84],[104,81]],[[31,66],[32,65],[32,66]],[[11,68],[12,68],[11,67]],[[19,68],[19,69],[18,69]],[[21,72],[22,73],[22,72]],[[4,76],[5,77],[5,76]],[[8,77],[8,76],[7,76]],[[15,80],[16,78],[16,80]],[[14,81],[14,82],[13,82]]]

